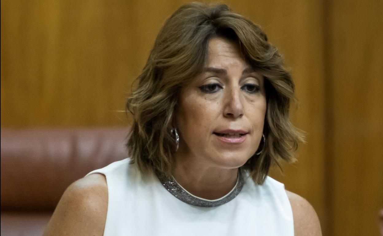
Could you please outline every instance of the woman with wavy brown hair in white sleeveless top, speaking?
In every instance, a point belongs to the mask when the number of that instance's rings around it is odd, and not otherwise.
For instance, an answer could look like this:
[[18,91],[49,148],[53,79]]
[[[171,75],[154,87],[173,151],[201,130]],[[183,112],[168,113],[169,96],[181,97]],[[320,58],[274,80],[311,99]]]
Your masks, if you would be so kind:
[[321,235],[311,205],[267,176],[301,136],[293,81],[258,26],[184,5],[138,81],[131,157],[72,184],[46,235]]

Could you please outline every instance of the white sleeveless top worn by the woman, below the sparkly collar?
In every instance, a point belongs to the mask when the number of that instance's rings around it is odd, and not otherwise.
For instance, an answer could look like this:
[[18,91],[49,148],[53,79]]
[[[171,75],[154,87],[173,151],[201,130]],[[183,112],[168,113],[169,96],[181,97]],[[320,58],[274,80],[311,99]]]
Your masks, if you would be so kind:
[[170,194],[155,174],[143,176],[128,158],[93,173],[108,184],[105,236],[294,236],[285,187],[271,177],[256,185],[246,175],[230,202],[196,207]]

